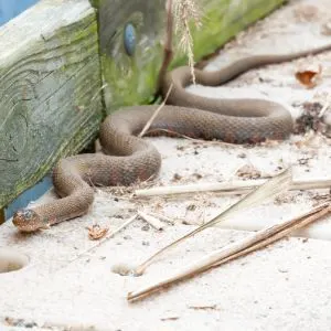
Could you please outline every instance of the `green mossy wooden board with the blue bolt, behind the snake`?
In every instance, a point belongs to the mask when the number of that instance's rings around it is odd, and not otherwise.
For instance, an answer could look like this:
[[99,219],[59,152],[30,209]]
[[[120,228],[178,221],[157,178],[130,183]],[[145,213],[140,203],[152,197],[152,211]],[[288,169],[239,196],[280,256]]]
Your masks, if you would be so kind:
[[[252,22],[266,15],[285,0],[200,0],[203,26],[193,29],[194,56],[214,52]],[[162,60],[166,0],[94,0],[99,9],[99,35],[103,74],[106,81],[107,111],[124,105],[142,104],[154,93]],[[129,56],[124,46],[126,24],[136,29],[136,53]],[[178,44],[178,43],[174,43]],[[185,63],[175,53],[172,66]]]

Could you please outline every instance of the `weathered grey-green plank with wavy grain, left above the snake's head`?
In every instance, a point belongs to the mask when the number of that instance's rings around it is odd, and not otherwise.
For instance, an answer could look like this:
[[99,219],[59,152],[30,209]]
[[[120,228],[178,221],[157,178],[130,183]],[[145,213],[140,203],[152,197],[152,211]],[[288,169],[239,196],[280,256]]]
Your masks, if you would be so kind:
[[0,28],[0,207],[79,151],[102,119],[87,0],[42,0]]

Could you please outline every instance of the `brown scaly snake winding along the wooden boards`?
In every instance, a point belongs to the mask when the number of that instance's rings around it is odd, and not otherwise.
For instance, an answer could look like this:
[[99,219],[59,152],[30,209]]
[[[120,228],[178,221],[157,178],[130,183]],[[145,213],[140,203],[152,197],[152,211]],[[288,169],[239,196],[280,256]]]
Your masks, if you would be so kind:
[[[287,55],[255,55],[238,60],[216,71],[195,70],[196,83],[216,86],[239,74],[271,63],[314,54],[330,45]],[[263,99],[212,99],[185,90],[191,84],[189,67],[179,67],[164,78],[163,94],[172,85],[168,104],[150,130],[167,129],[202,139],[234,143],[254,143],[266,139],[286,139],[292,118],[281,105]],[[94,185],[129,185],[156,175],[161,167],[158,150],[135,135],[139,134],[157,106],[134,106],[109,115],[100,126],[103,153],[87,153],[60,160],[53,171],[56,193],[53,202],[18,211],[13,224],[23,232],[45,228],[88,212],[94,201]]]

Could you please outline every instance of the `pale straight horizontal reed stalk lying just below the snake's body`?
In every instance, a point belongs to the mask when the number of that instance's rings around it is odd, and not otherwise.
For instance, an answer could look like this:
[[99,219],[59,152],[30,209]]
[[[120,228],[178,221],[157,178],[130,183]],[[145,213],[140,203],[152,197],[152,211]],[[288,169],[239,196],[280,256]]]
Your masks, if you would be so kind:
[[[201,183],[190,185],[173,185],[173,186],[159,186],[145,190],[136,190],[135,196],[156,196],[156,195],[173,195],[195,192],[217,191],[222,195],[244,194],[248,191],[263,185],[266,180],[254,181],[232,181],[225,183]],[[308,180],[308,181],[293,181],[289,190],[318,190],[331,188],[331,179],[324,180]]]

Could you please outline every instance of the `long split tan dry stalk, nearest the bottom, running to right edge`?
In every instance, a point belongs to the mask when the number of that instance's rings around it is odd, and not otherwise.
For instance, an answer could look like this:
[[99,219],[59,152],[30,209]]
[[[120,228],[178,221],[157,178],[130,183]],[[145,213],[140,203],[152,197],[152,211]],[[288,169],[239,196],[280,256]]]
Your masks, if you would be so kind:
[[158,281],[154,285],[150,285],[138,289],[137,291],[129,292],[127,299],[130,301],[138,300],[142,297],[146,297],[152,292],[162,289],[166,286],[178,282],[180,280],[188,279],[200,273],[206,271],[207,269],[218,267],[220,265],[225,264],[228,260],[233,260],[256,249],[260,249],[276,241],[279,241],[280,238],[284,238],[292,231],[307,226],[310,223],[322,218],[329,213],[331,213],[330,201],[314,207],[308,213],[305,213],[303,215],[300,215],[293,220],[259,231],[258,233],[254,234],[253,236],[249,236],[248,238],[244,238],[243,241],[227,245],[222,249],[215,250],[209,254],[206,257],[188,265],[182,270],[175,273],[169,278]]

